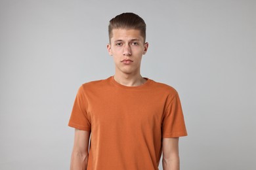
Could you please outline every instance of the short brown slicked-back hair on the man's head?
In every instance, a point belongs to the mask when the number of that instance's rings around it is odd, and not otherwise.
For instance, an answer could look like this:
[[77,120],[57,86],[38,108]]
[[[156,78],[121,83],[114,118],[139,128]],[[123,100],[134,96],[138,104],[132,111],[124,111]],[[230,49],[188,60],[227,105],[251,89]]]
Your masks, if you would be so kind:
[[110,20],[108,25],[108,36],[111,39],[113,29],[137,29],[140,31],[140,35],[143,37],[144,42],[146,41],[146,23],[137,14],[127,12],[117,15],[115,18]]

